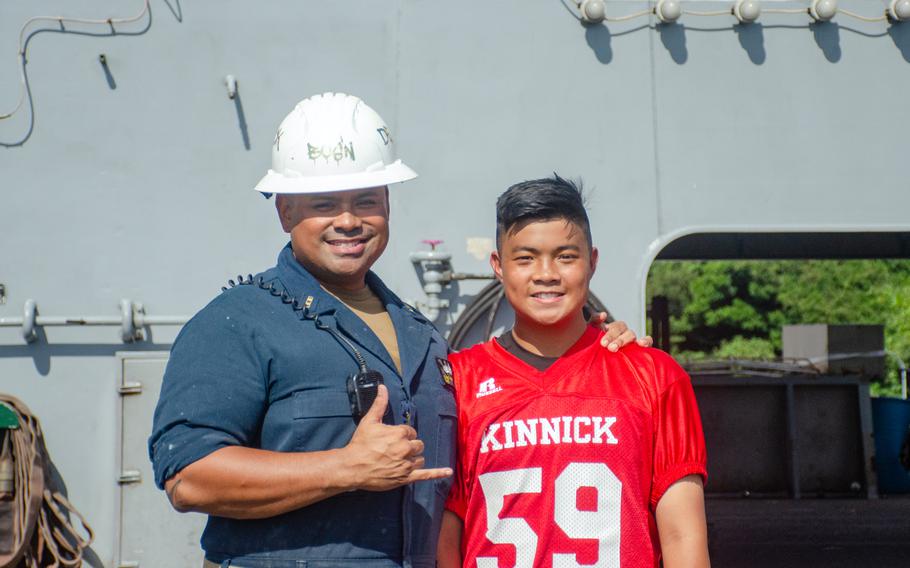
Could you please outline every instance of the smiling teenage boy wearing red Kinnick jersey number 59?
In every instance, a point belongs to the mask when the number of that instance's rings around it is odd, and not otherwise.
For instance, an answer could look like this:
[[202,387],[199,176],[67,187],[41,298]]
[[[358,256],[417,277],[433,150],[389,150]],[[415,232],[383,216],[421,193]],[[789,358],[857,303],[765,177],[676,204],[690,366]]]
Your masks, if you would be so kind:
[[496,224],[515,326],[450,357],[458,467],[438,566],[708,566],[692,385],[664,352],[608,351],[586,324],[597,249],[579,189],[514,185]]

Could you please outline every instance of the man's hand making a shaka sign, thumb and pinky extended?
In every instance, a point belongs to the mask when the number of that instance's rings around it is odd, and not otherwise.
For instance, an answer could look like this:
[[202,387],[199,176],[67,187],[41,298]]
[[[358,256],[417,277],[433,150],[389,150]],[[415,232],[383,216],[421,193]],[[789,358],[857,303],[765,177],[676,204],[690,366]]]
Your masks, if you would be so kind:
[[382,417],[389,405],[389,391],[380,385],[376,400],[360,420],[344,448],[353,485],[368,491],[387,491],[415,481],[441,479],[451,468],[423,469],[423,442],[410,426],[389,426]]

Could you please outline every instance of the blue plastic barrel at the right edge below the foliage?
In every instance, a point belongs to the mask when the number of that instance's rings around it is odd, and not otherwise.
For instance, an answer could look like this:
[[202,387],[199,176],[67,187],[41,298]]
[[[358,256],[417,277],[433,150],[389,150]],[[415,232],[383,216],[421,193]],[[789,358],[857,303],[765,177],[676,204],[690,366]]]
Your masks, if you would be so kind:
[[910,428],[910,400],[872,399],[875,429],[875,471],[881,493],[910,493],[910,471],[899,459],[901,445]]

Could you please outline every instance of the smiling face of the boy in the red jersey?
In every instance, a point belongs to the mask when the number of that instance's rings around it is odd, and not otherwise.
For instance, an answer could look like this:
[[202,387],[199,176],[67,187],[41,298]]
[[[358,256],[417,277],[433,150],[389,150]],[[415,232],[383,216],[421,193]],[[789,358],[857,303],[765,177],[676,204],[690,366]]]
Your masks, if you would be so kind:
[[597,249],[565,219],[517,227],[500,235],[499,250],[490,255],[516,323],[551,326],[582,318]]

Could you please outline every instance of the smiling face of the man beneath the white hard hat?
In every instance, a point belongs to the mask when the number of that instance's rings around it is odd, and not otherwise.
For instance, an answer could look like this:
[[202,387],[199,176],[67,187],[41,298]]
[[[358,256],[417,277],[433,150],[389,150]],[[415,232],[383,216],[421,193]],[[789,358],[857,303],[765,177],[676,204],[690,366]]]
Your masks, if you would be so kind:
[[389,241],[385,186],[331,193],[279,195],[281,226],[297,261],[329,285],[359,290]]

